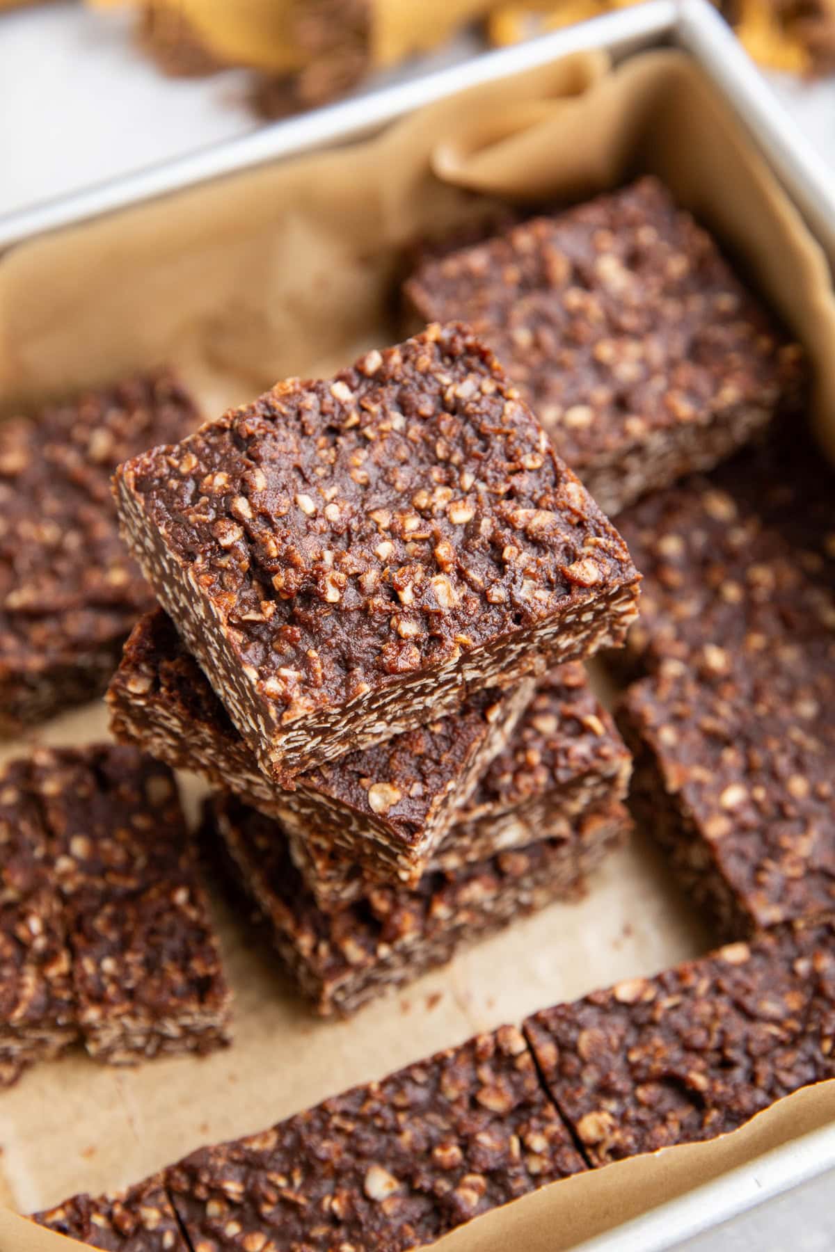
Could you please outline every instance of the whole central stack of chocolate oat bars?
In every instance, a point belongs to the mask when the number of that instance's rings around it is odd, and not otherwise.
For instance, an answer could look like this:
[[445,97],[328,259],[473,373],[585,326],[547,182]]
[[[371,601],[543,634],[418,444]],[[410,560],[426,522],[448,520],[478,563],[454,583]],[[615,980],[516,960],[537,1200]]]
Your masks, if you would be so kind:
[[469,332],[282,383],[116,497],[161,608],[115,734],[218,790],[207,830],[319,1012],[575,895],[623,838],[628,754],[577,659],[622,644],[638,576]]

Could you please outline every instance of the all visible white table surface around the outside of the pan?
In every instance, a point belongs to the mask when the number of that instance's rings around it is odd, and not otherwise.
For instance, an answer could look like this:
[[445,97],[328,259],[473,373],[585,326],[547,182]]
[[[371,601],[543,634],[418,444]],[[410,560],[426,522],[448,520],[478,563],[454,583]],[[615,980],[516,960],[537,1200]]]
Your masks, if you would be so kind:
[[[809,85],[772,76],[772,83],[835,165],[835,79]],[[161,78],[133,46],[118,13],[94,14],[59,0],[0,15],[0,213],[244,134],[257,125],[245,84],[235,71]],[[751,1248],[832,1252],[835,1174],[690,1239],[679,1252]]]

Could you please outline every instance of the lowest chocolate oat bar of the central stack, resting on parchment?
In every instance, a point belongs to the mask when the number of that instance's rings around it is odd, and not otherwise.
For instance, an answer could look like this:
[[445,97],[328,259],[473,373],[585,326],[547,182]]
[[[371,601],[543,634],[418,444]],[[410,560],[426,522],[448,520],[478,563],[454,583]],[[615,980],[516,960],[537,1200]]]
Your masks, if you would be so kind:
[[204,833],[224,879],[254,903],[302,994],[329,1017],[353,1013],[516,918],[577,896],[586,874],[628,829],[623,806],[610,804],[578,818],[567,838],[424,874],[414,890],[378,886],[327,913],[305,888],[277,823],[218,796],[207,808]]

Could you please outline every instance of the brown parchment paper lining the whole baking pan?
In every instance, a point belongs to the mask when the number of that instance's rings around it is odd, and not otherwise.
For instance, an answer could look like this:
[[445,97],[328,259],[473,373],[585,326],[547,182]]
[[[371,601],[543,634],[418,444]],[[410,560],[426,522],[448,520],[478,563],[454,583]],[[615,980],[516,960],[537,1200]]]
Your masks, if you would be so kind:
[[[23,244],[0,258],[0,404],[169,361],[207,413],[277,378],[325,373],[398,337],[401,249],[492,198],[573,199],[660,174],[725,240],[804,341],[815,421],[835,453],[835,302],[824,257],[739,124],[677,53],[610,73],[602,54],[437,104],[372,141],[265,167]],[[101,709],[45,727],[105,734]],[[23,744],[5,745],[9,757]],[[195,803],[198,785],[188,791]],[[553,906],[353,1022],[309,1017],[220,903],[237,1043],[198,1062],[113,1070],[83,1055],[0,1094],[3,1181],[28,1212],[134,1182],[479,1029],[704,950],[710,936],[638,836],[580,905]],[[835,1083],[711,1144],[558,1183],[444,1247],[570,1247],[835,1117]],[[71,1247],[0,1211],[3,1252]]]

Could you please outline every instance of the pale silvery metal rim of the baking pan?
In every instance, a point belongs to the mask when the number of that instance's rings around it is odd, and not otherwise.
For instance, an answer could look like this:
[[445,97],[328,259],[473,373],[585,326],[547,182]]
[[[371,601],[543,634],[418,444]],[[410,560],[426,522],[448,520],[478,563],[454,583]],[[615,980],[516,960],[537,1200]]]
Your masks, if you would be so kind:
[[[707,0],[647,0],[0,217],[0,249],[235,170],[344,143],[421,105],[546,65],[570,53],[605,49],[620,61],[655,46],[677,46],[699,63],[745,124],[835,267],[835,172],[799,131]],[[834,1167],[835,1124],[831,1124],[583,1243],[582,1252],[660,1252]]]

